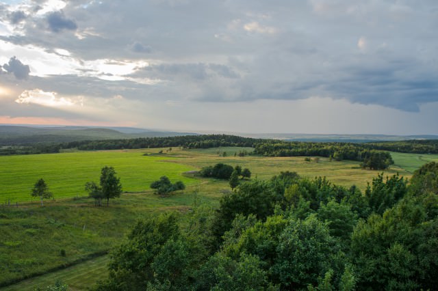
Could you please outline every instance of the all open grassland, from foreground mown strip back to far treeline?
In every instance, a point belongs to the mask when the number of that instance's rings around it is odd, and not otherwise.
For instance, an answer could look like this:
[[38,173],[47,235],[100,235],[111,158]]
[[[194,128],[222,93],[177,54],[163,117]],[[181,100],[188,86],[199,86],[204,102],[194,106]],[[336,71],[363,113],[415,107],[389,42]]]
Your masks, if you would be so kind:
[[[158,154],[159,150],[164,154]],[[362,191],[379,172],[361,169],[358,162],[328,158],[312,157],[305,161],[304,157],[238,156],[242,150],[252,149],[173,148],[168,152],[143,149],[1,156],[0,201],[10,199],[19,203],[18,207],[14,203],[0,206],[0,286],[33,277],[2,290],[33,290],[35,286],[54,283],[55,278],[68,283],[71,290],[83,290],[84,286],[103,279],[107,259],[101,256],[119,245],[138,219],[167,210],[187,213],[199,204],[218,206],[220,197],[230,190],[227,181],[186,173],[207,165],[248,167],[253,178],[262,180],[281,171],[296,171],[307,178],[326,176],[334,184],[356,184]],[[400,173],[409,178],[413,169],[438,157],[419,156],[394,153],[396,165],[384,174]],[[116,169],[126,193],[112,199],[110,207],[94,207],[92,200],[85,197],[83,185],[90,180],[98,182],[104,165]],[[169,197],[154,195],[149,184],[163,175],[172,181],[183,180],[187,189]],[[29,202],[31,186],[38,178],[44,178],[55,195],[43,208],[38,201]],[[86,263],[81,263],[83,260]]]

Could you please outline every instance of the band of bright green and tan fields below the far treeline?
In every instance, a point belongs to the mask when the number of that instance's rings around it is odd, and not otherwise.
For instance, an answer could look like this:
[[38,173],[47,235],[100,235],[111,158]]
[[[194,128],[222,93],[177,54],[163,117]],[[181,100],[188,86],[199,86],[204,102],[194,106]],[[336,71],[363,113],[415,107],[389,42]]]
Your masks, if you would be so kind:
[[[84,184],[98,182],[101,168],[105,165],[116,169],[123,191],[142,192],[149,189],[153,180],[166,175],[170,180],[183,180],[185,184],[197,181],[183,176],[183,172],[200,169],[215,163],[229,163],[248,167],[253,177],[269,179],[281,171],[296,171],[300,176],[314,178],[326,176],[335,184],[356,184],[364,190],[377,171],[361,169],[356,161],[329,161],[328,158],[304,161],[303,157],[238,156],[239,152],[252,148],[210,148],[205,150],[179,150],[162,156],[143,156],[144,152],[156,153],[157,149],[116,150],[102,152],[66,152],[62,154],[37,154],[28,156],[0,156],[0,204],[30,201],[30,191],[36,180],[44,178],[55,199],[86,196]],[[226,152],[226,156],[223,156]],[[236,156],[235,156],[236,155]],[[385,171],[391,175],[400,173],[409,178],[412,172],[428,163],[438,161],[438,155],[402,154],[392,152],[395,165]]]

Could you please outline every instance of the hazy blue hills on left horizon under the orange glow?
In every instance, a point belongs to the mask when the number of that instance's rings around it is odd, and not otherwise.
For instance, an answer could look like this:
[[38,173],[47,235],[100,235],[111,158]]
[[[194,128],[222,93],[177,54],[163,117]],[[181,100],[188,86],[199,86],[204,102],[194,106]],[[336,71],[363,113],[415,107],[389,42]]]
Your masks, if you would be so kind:
[[196,135],[152,131],[142,128],[85,127],[85,126],[12,126],[0,125],[0,146],[20,146],[34,143],[64,143],[101,139],[134,139],[138,137],[176,137]]

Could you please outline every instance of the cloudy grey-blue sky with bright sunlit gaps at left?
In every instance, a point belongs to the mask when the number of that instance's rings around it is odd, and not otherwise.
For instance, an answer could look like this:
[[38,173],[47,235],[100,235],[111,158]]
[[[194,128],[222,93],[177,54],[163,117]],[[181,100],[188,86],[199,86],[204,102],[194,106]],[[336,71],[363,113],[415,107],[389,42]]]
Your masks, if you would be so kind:
[[0,124],[438,134],[438,1],[0,0]]

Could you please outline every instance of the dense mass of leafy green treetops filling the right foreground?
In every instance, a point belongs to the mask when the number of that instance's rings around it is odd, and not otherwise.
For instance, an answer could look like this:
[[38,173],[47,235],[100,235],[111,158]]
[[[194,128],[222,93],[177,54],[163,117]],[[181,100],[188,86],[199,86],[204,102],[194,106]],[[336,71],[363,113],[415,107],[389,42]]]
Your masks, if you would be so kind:
[[293,172],[244,182],[217,210],[138,221],[95,289],[435,290],[437,177],[378,175],[365,195]]

